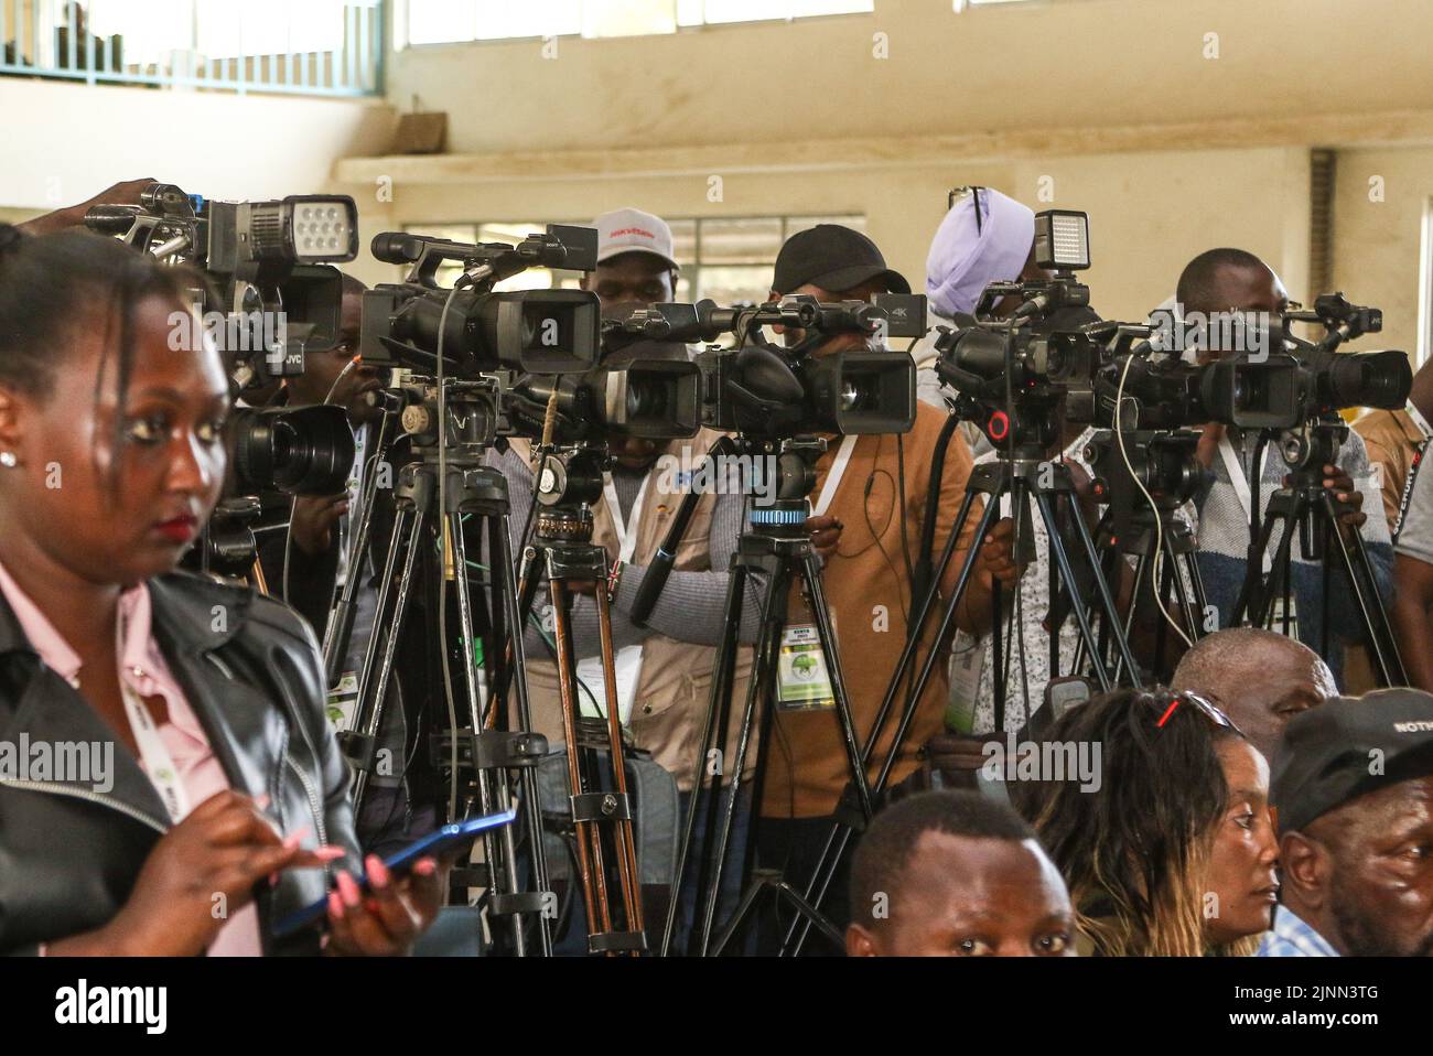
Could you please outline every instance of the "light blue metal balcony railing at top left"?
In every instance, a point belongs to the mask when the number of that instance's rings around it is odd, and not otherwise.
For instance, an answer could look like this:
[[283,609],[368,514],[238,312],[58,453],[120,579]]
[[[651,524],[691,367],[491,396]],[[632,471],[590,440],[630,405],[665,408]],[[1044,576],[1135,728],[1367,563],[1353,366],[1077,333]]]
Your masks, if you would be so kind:
[[0,0],[0,77],[375,96],[385,46],[384,0]]

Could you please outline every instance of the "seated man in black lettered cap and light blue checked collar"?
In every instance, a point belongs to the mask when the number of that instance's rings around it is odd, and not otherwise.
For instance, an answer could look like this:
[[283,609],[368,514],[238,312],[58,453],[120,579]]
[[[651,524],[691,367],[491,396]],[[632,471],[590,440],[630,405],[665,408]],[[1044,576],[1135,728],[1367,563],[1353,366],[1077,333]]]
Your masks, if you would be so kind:
[[1284,885],[1258,956],[1433,954],[1433,696],[1380,689],[1295,716],[1271,800]]

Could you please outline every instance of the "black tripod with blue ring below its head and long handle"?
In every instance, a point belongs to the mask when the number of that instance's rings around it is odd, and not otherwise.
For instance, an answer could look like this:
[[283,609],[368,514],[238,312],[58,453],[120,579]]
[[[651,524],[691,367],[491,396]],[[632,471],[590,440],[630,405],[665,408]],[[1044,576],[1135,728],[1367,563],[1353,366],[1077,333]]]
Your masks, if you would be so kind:
[[[716,908],[721,897],[721,878],[727,873],[731,855],[732,828],[735,825],[737,804],[748,751],[754,751],[757,758],[752,810],[759,810],[767,768],[764,742],[772,728],[778,696],[778,665],[787,625],[787,599],[792,585],[798,583],[804,590],[815,620],[817,643],[825,659],[834,702],[833,709],[851,768],[856,810],[860,811],[863,820],[868,820],[873,811],[871,792],[863,765],[863,752],[856,732],[856,721],[851,714],[850,698],[847,696],[835,648],[835,629],[827,609],[825,593],[821,589],[821,562],[811,547],[811,540],[804,529],[805,520],[810,516],[808,496],[815,486],[815,461],[825,451],[825,440],[817,437],[792,437],[781,441],[770,441],[728,436],[718,440],[706,457],[721,459],[741,451],[742,457],[751,456],[752,463],[755,463],[757,459],[772,457],[772,450],[778,451],[775,456],[778,466],[775,501],[770,507],[749,510],[737,553],[732,555],[731,577],[727,586],[727,602],[722,618],[725,629],[716,653],[711,701],[702,722],[702,744],[696,754],[696,765],[692,775],[692,802],[686,812],[682,840],[678,847],[672,901],[668,907],[666,924],[662,931],[662,956],[671,951],[672,937],[676,930],[676,918],[682,903],[681,888],[692,857],[692,844],[699,814],[705,814],[705,824],[702,847],[695,864],[696,916],[694,917],[694,927],[688,939],[689,951],[695,951],[699,956],[719,954],[765,891],[771,891],[777,898],[787,898],[798,913],[808,914],[808,918],[817,923],[823,931],[833,934],[830,924],[821,920],[820,914],[807,904],[791,884],[782,883],[780,874],[762,875],[752,880],[751,863],[757,832],[757,825],[752,825],[748,834],[742,875],[744,896],[732,920],[724,928],[722,937],[715,947],[712,946],[712,930],[716,923]],[[688,491],[682,497],[682,506],[678,509],[668,536],[662,542],[656,562],[658,566],[671,566],[671,556],[676,553],[681,544],[682,533],[686,529],[686,522],[691,519],[692,509],[695,509],[696,499],[696,491]],[[755,666],[747,688],[747,699],[741,712],[741,725],[738,726],[737,755],[729,767],[718,768],[712,774],[708,769],[706,761],[716,745],[728,744],[741,613],[748,580],[758,573],[765,573],[768,577],[767,595],[761,606],[761,629],[757,638]],[[638,596],[632,612],[633,620],[639,623],[651,613],[652,605],[656,602],[658,593],[661,593],[662,576],[653,576],[649,570],[648,576],[643,577],[642,587],[642,593]],[[761,724],[759,732],[754,734],[757,729],[758,706],[762,709]],[[722,769],[731,774],[727,782],[722,782]],[[722,798],[724,792],[727,794],[725,800]],[[840,940],[840,936],[837,934],[835,939]]]

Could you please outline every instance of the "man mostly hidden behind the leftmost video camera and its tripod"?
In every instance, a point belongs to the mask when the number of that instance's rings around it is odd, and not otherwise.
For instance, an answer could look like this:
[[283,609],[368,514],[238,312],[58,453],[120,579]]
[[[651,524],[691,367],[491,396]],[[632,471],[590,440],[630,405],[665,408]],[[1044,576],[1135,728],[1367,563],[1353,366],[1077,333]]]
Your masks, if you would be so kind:
[[[335,592],[342,589],[350,575],[360,576],[342,681],[330,695],[335,705],[348,704],[357,693],[357,672],[363,666],[373,630],[377,575],[383,566],[394,512],[391,491],[380,489],[373,493],[377,506],[368,553],[360,556],[358,569],[350,569],[348,543],[358,523],[364,480],[375,470],[378,453],[374,444],[383,417],[383,411],[367,400],[368,393],[381,385],[381,378],[374,368],[355,360],[364,288],[353,275],[342,277],[340,328],[332,348],[310,352],[304,373],[285,378],[284,387],[269,401],[269,405],[305,407],[327,403],[342,407],[354,431],[354,464],[348,487],[331,496],[295,496],[288,530],[272,533],[259,549],[269,590],[292,605],[312,625],[320,640],[328,628]],[[397,479],[398,467],[388,469]],[[421,704],[426,695],[421,678],[426,665],[416,659],[421,656],[421,645],[406,636],[401,662],[397,665],[398,679],[390,682],[378,732],[380,748],[388,752],[385,758],[393,759],[394,765],[387,768],[387,774],[370,774],[368,791],[357,818],[360,843],[380,854],[397,850],[438,824],[436,804],[443,795],[441,782],[428,772],[427,754],[411,748],[416,736],[413,731],[424,725]]]

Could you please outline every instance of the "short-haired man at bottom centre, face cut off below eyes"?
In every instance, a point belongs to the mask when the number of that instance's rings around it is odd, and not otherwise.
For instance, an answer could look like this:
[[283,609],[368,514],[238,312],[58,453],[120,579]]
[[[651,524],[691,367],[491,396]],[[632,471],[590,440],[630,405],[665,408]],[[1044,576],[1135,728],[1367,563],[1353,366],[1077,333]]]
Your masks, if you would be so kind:
[[923,792],[876,815],[851,867],[851,957],[1069,957],[1065,881],[1009,807]]

